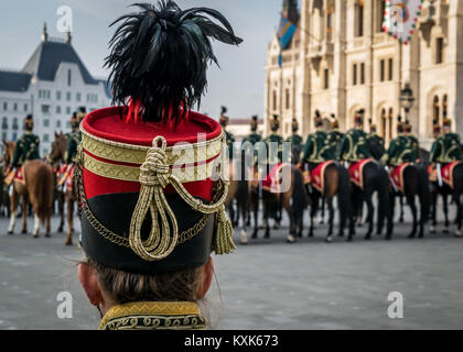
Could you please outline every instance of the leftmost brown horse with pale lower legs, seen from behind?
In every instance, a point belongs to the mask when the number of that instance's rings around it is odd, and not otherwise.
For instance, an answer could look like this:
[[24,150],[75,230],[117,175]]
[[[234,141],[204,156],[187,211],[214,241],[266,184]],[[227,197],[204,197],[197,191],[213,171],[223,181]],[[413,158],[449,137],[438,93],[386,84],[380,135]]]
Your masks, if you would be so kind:
[[[9,165],[14,153],[15,142],[4,142],[3,160],[6,165]],[[22,233],[28,233],[28,209],[29,201],[34,211],[34,231],[33,238],[39,237],[40,224],[45,226],[45,237],[50,238],[50,218],[52,216],[52,200],[53,200],[53,169],[50,165],[41,160],[28,161],[23,167],[25,184],[13,179],[10,196],[10,227],[9,234],[13,234],[17,208],[20,197],[22,197]]]

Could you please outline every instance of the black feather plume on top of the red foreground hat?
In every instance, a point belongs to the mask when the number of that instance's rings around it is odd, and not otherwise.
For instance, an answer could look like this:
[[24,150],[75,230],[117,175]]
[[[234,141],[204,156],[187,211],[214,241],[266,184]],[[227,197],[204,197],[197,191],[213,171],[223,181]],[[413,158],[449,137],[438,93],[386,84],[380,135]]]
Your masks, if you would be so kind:
[[140,12],[111,23],[120,23],[105,59],[111,70],[112,103],[127,106],[131,99],[143,121],[172,119],[176,125],[195,103],[200,108],[207,66],[218,65],[211,38],[234,45],[243,40],[213,9],[182,11],[172,0],[132,6]]

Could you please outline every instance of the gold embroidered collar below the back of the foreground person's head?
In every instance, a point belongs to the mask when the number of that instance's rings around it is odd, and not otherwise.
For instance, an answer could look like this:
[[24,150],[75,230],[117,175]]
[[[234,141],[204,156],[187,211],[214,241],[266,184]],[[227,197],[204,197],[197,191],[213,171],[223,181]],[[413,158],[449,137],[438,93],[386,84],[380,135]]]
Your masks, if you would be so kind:
[[110,308],[99,330],[196,330],[205,329],[206,320],[195,302],[139,301]]

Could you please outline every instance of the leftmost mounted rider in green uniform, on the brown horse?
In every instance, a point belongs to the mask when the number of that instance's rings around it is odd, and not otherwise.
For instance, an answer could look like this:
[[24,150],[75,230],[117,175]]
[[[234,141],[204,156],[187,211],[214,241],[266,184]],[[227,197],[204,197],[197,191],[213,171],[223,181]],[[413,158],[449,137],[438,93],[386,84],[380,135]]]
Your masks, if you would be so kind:
[[11,166],[17,168],[22,166],[26,161],[33,161],[40,158],[39,145],[40,139],[36,134],[33,134],[34,119],[32,114],[29,114],[24,119],[24,131],[25,133],[19,139],[14,148],[13,160]]

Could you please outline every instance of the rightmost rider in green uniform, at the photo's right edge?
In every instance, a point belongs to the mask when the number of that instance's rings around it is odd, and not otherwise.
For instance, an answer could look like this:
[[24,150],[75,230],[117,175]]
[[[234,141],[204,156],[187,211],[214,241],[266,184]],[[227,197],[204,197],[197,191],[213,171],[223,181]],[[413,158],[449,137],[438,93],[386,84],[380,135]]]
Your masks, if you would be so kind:
[[430,162],[432,164],[449,164],[463,161],[460,135],[452,133],[452,120],[444,119],[442,132],[431,147]]

